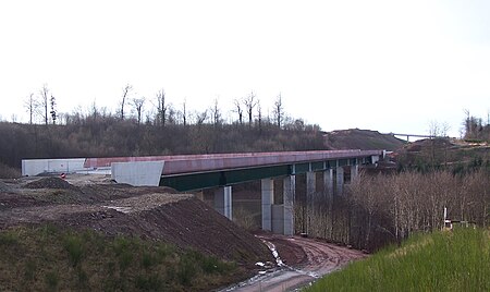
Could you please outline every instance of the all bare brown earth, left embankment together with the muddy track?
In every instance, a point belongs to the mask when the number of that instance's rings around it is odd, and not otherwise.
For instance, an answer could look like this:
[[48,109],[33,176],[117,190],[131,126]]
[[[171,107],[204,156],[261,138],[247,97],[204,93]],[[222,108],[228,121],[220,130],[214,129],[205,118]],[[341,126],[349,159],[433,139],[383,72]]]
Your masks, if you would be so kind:
[[257,277],[229,288],[236,291],[295,288],[365,256],[301,236],[253,234],[194,195],[167,187],[133,187],[89,174],[0,181],[0,230],[46,222],[161,240],[237,261]]

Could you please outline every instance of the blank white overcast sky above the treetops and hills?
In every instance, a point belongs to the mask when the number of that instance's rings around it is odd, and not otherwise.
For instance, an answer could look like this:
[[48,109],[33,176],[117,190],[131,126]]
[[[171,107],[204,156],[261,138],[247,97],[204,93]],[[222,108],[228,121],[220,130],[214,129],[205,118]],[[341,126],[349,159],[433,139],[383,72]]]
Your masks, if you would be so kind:
[[[223,111],[252,90],[326,131],[460,135],[490,111],[490,1],[1,1],[0,115],[47,84],[58,110],[164,88]],[[148,104],[149,106],[149,104]]]

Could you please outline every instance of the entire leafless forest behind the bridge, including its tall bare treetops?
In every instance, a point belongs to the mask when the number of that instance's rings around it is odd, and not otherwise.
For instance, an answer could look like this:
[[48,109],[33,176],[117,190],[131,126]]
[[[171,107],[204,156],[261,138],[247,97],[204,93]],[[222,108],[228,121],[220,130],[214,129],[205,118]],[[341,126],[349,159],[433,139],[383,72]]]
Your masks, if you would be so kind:
[[[163,89],[152,99],[134,97],[127,84],[115,110],[95,104],[71,113],[57,110],[45,85],[25,100],[28,123],[0,122],[0,163],[22,159],[324,149],[318,125],[291,118],[278,95],[265,114],[252,92],[224,112],[218,99],[207,109],[169,102]],[[228,117],[228,118],[224,118]],[[233,117],[233,118],[231,118]]]

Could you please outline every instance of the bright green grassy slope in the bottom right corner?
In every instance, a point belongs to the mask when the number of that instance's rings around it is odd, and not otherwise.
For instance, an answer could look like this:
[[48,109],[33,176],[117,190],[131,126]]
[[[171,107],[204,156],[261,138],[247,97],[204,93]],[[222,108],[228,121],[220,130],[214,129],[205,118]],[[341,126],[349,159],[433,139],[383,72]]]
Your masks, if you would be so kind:
[[490,291],[490,231],[419,234],[326,276],[306,291]]

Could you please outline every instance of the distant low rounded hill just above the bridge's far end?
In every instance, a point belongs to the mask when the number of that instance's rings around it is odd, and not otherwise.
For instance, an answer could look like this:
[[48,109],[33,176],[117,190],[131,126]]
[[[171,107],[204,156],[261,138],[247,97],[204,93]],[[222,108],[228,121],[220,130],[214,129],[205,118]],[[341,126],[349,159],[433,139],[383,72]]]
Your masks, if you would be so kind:
[[329,149],[384,149],[394,151],[405,142],[393,135],[381,134],[370,130],[339,130],[324,133],[324,144]]

